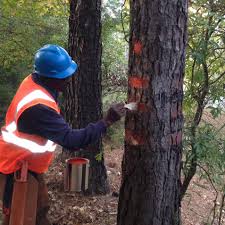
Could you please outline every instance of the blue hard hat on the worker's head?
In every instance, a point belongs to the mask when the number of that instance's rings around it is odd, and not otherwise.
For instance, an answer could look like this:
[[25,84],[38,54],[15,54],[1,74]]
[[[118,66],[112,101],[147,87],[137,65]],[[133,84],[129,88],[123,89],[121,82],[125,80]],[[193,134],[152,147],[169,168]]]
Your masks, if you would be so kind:
[[64,79],[72,76],[76,70],[77,64],[58,45],[45,45],[35,54],[34,72],[41,76]]

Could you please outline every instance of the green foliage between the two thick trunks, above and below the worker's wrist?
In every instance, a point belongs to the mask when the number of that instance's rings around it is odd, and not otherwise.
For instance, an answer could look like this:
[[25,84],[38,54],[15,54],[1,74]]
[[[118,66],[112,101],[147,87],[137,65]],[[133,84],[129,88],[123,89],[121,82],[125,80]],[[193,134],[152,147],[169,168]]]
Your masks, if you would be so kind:
[[[107,111],[114,102],[126,101],[128,43],[121,21],[123,1],[109,0],[103,4],[102,11],[102,76],[103,111]],[[127,7],[125,7],[125,10]],[[124,10],[124,8],[123,8]],[[128,21],[124,26],[128,28]],[[110,149],[123,145],[124,121],[110,127],[105,140]],[[100,157],[100,156],[98,156]]]

